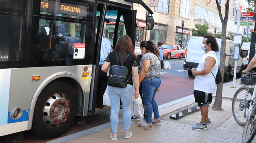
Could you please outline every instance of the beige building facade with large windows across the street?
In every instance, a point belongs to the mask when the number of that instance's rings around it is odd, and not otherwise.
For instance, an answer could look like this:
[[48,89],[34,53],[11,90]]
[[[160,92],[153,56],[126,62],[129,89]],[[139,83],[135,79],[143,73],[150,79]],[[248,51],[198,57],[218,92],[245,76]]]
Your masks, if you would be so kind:
[[[153,0],[152,0],[153,1]],[[226,0],[221,1],[222,16],[225,15]],[[150,6],[150,0],[143,0]],[[227,33],[244,34],[245,26],[234,26],[233,9],[244,11],[248,7],[242,0],[231,0],[227,23]],[[169,42],[182,47],[187,46],[188,38],[192,36],[191,29],[196,29],[195,24],[208,24],[208,32],[221,33],[222,24],[215,0],[159,0],[157,7],[151,7],[154,12],[154,29],[146,30],[146,11],[142,6],[134,4],[137,10],[136,41],[151,40]],[[215,30],[216,29],[216,30]]]

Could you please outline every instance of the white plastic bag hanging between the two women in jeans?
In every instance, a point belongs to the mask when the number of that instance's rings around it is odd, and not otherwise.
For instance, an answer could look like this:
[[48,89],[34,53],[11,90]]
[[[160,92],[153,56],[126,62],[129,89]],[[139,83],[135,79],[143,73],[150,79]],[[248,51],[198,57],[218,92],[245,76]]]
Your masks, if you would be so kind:
[[144,108],[142,104],[142,99],[139,96],[139,98],[135,99],[134,98],[135,91],[133,92],[133,98],[131,102],[131,116],[136,116],[136,117],[143,117],[144,114]]

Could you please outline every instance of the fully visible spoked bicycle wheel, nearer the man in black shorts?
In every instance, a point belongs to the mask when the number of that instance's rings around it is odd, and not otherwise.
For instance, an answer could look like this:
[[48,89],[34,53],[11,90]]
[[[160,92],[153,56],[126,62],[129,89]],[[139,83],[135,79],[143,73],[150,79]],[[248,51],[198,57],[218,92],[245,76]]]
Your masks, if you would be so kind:
[[248,109],[246,110],[245,113],[245,108],[247,107],[245,103],[248,103],[251,99],[251,96],[253,95],[253,90],[250,90],[247,98],[245,99],[244,102],[243,99],[245,98],[245,94],[247,93],[247,90],[249,87],[243,86],[240,87],[239,89],[236,90],[234,93],[234,98],[232,101],[232,112],[234,119],[239,125],[245,125],[246,123],[246,118],[244,117],[244,114],[248,114]]

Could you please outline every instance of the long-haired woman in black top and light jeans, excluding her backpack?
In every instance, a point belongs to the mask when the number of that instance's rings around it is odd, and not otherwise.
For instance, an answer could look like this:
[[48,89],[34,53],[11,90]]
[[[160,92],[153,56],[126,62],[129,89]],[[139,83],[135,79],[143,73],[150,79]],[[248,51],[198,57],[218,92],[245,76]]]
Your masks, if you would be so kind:
[[[130,54],[130,55],[128,55]],[[118,58],[118,59],[117,59]],[[119,62],[119,63],[118,63]],[[110,134],[112,140],[117,140],[118,113],[120,107],[120,99],[123,108],[123,122],[125,127],[125,138],[130,138],[133,133],[130,131],[131,124],[131,99],[133,95],[133,83],[135,87],[135,98],[139,97],[139,74],[137,57],[133,51],[133,44],[128,35],[122,35],[113,52],[108,55],[102,71],[107,72],[111,65],[120,65],[122,63],[128,69],[128,84],[126,87],[108,86],[108,95],[111,102],[110,121],[113,133]],[[132,76],[129,76],[132,73]],[[133,80],[132,80],[133,79]]]

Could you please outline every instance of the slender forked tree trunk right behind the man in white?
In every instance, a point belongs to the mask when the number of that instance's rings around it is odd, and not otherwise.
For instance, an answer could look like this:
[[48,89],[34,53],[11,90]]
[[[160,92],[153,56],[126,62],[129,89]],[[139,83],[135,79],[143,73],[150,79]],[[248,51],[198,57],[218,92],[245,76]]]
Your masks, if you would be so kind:
[[216,91],[216,98],[213,104],[212,109],[213,110],[222,110],[221,105],[222,105],[222,89],[223,89],[223,77],[224,77],[224,65],[225,65],[225,50],[226,50],[226,34],[227,34],[227,23],[228,23],[228,12],[229,12],[229,1],[227,0],[225,4],[225,15],[224,17],[222,16],[221,12],[221,6],[219,5],[219,0],[215,0],[216,5],[218,8],[219,12],[219,17],[221,18],[221,24],[222,24],[222,29],[221,29],[221,51],[220,51],[220,71],[222,75],[222,81],[220,84],[217,85],[217,91]]

